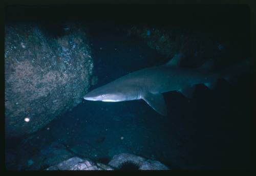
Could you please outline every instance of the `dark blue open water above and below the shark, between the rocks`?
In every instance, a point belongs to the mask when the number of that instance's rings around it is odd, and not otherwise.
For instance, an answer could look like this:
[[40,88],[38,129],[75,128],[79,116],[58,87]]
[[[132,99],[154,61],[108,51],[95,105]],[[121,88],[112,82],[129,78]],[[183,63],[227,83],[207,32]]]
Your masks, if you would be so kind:
[[[90,90],[169,59],[140,39],[117,32],[116,26],[104,21],[91,23],[94,75],[98,83]],[[191,100],[176,92],[164,93],[166,117],[157,114],[143,100],[84,100],[34,134],[31,142],[34,145],[23,152],[33,156],[41,148],[59,141],[80,156],[105,163],[114,155],[129,152],[156,159],[174,169],[248,168],[249,83],[249,75],[242,75],[233,84],[219,80],[215,91],[198,85]],[[8,150],[22,156],[22,151],[15,149],[11,141],[6,143]]]

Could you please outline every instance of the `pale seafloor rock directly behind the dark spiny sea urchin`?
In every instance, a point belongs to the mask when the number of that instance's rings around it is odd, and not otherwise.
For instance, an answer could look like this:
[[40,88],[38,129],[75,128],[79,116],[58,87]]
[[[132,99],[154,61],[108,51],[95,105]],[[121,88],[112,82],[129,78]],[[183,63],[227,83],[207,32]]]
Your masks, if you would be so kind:
[[116,169],[120,169],[120,166],[127,161],[138,165],[139,170],[169,170],[167,166],[163,165],[159,161],[145,159],[130,153],[115,155],[109,162],[109,165]]

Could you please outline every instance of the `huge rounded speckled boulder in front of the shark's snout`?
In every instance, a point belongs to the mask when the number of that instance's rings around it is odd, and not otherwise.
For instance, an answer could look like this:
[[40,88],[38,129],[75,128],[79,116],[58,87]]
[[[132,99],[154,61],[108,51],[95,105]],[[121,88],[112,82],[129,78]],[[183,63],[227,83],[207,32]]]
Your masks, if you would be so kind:
[[86,31],[79,24],[59,35],[35,24],[5,26],[6,137],[31,134],[81,102],[93,69]]

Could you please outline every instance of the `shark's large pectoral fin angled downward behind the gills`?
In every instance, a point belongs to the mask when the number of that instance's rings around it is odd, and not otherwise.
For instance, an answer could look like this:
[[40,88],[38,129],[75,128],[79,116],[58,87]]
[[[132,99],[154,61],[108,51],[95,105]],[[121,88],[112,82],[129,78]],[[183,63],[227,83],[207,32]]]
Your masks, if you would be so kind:
[[167,109],[162,94],[152,94],[148,92],[143,95],[142,99],[159,114],[163,116],[167,115]]

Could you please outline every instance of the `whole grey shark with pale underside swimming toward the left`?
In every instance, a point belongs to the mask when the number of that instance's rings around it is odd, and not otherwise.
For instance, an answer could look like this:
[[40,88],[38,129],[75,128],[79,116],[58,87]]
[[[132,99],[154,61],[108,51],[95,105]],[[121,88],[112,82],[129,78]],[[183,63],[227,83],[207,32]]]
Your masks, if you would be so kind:
[[[122,76],[89,92],[83,98],[91,101],[118,102],[143,99],[156,112],[167,115],[162,93],[178,91],[190,98],[196,84],[213,88],[219,78],[229,79],[245,70],[244,62],[220,73],[210,72],[210,62],[199,69],[179,67],[182,54],[175,55],[166,64],[142,69]],[[246,62],[246,66],[248,63]]]

